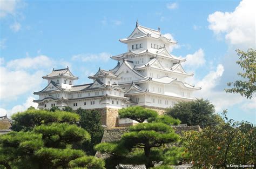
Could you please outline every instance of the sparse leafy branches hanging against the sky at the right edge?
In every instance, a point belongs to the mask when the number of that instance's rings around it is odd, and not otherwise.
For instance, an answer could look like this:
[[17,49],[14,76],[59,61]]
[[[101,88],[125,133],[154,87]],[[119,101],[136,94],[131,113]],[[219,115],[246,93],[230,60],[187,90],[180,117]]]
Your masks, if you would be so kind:
[[244,79],[236,80],[235,82],[227,83],[227,86],[233,86],[232,89],[225,89],[228,93],[239,93],[247,99],[251,99],[253,93],[256,91],[256,50],[248,49],[247,52],[239,49],[235,50],[239,59],[237,64],[241,67],[243,72],[237,73],[238,76]]

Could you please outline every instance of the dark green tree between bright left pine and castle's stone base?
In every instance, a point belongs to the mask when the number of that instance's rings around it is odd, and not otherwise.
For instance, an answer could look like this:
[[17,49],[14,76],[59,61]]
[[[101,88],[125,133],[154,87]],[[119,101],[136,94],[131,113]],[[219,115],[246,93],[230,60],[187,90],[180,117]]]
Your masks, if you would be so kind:
[[104,133],[104,129],[100,122],[100,112],[97,110],[84,110],[81,108],[77,109],[76,112],[80,116],[79,126],[91,135],[91,141],[83,143],[82,148],[87,154],[94,156],[96,151],[93,147],[100,143]]

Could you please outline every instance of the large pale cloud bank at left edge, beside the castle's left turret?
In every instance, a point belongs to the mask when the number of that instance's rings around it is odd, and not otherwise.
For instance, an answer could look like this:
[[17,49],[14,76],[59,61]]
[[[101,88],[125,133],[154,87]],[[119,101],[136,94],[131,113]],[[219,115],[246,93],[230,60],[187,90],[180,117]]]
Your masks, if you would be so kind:
[[10,60],[2,64],[0,67],[0,99],[15,100],[21,94],[39,90],[39,86],[43,83],[42,76],[49,73],[48,70],[52,69],[53,65],[62,66],[62,64],[66,67],[68,63],[62,60],[52,60],[43,55]]

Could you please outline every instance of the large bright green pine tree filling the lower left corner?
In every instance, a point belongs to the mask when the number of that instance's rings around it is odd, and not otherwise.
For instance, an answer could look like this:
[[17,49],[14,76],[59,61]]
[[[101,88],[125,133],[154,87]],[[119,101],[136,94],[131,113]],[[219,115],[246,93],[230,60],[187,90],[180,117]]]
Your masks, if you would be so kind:
[[12,119],[17,131],[0,136],[0,165],[6,168],[104,168],[102,160],[72,148],[73,144],[91,139],[86,130],[76,125],[78,114],[30,109],[14,114]]

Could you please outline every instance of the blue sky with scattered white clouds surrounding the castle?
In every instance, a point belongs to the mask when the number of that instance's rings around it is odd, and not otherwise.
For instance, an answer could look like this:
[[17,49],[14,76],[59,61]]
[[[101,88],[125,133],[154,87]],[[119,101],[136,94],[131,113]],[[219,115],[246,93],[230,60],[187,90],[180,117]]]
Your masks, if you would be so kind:
[[256,99],[226,93],[241,71],[235,49],[255,49],[255,4],[242,1],[6,1],[0,0],[0,116],[24,111],[46,85],[42,76],[69,66],[79,79],[116,64],[110,56],[127,51],[118,41],[140,25],[158,29],[178,44],[186,59],[186,82],[202,87],[197,98],[215,112],[255,124]]

